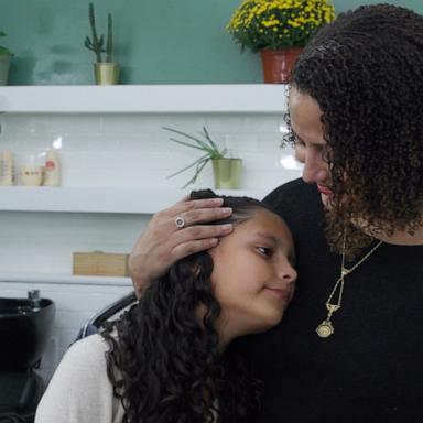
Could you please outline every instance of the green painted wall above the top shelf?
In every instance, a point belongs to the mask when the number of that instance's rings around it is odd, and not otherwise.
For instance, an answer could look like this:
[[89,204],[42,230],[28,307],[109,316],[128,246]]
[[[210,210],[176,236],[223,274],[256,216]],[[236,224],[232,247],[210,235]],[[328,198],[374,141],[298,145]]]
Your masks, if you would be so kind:
[[[258,54],[225,25],[241,0],[94,0],[97,25],[113,15],[122,84],[253,84]],[[334,0],[336,11],[380,1]],[[11,85],[93,84],[89,0],[0,0],[0,40],[15,53]],[[422,0],[391,1],[423,13]]]

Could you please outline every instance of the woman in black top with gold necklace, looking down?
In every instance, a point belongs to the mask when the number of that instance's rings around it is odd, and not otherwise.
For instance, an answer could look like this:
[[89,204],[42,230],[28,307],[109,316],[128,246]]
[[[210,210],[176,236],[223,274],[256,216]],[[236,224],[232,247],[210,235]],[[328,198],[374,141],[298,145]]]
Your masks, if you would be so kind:
[[[264,202],[293,232],[300,280],[280,325],[237,341],[264,384],[256,422],[421,422],[423,17],[339,15],[300,56],[289,113],[303,181]],[[216,242],[223,228],[204,224],[219,213],[158,214],[132,252],[135,286]]]

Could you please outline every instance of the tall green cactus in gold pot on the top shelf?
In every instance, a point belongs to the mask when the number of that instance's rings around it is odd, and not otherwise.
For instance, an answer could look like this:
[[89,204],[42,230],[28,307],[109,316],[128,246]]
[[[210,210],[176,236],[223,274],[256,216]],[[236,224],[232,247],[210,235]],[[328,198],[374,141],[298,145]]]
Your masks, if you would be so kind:
[[[117,84],[119,80],[119,65],[112,61],[113,35],[111,14],[107,15],[107,40],[105,36],[97,34],[96,18],[94,14],[94,6],[89,3],[88,10],[89,24],[91,26],[91,39],[85,39],[85,46],[96,54],[97,63],[94,64],[94,74],[97,85]],[[106,59],[102,61],[102,53],[106,53]]]

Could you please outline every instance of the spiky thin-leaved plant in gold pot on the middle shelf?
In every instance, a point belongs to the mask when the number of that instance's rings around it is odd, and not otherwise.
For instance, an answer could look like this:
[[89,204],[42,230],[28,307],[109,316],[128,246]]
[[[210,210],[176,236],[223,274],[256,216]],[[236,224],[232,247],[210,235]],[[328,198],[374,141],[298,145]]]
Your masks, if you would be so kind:
[[[207,129],[203,127],[203,132],[200,132],[202,139],[198,137],[191,135],[188,133],[178,131],[176,129],[163,127],[166,131],[171,131],[180,137],[184,137],[189,141],[181,141],[174,138],[171,138],[171,141],[176,142],[181,145],[188,147],[191,149],[200,150],[204,154],[188,164],[184,169],[169,175],[167,177],[173,177],[178,175],[182,172],[187,171],[195,166],[194,176],[183,186],[185,188],[189,184],[194,184],[197,181],[199,173],[203,171],[205,165],[208,162],[213,164],[213,172],[215,178],[215,188],[220,189],[237,189],[240,186],[241,170],[242,170],[242,160],[241,159],[229,159],[225,155],[227,154],[227,149],[219,149],[215,141],[210,138]],[[193,142],[194,141],[194,142]]]

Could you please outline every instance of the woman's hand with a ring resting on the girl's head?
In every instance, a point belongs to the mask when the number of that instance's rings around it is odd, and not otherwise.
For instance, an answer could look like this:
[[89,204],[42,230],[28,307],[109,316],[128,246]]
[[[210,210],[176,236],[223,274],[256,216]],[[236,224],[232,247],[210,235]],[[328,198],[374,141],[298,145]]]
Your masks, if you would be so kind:
[[129,271],[138,296],[177,260],[215,247],[219,237],[232,231],[231,224],[203,225],[230,216],[232,210],[221,207],[221,198],[188,198],[158,212],[138,239],[129,258]]

